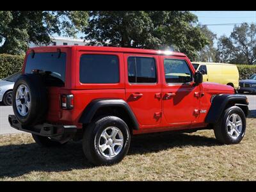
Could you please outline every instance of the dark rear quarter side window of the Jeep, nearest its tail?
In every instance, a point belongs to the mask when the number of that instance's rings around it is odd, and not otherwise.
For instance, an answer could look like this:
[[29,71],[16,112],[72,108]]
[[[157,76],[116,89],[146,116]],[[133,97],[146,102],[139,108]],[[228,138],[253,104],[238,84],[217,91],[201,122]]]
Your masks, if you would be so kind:
[[118,83],[118,57],[108,54],[83,54],[80,59],[81,83]]

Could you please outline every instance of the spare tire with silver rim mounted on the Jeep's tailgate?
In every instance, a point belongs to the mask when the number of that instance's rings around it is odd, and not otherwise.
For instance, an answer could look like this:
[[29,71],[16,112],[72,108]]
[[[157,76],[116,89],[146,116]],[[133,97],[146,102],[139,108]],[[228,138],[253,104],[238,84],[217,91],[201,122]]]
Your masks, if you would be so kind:
[[42,122],[47,112],[47,90],[39,74],[22,74],[13,86],[13,113],[22,125]]

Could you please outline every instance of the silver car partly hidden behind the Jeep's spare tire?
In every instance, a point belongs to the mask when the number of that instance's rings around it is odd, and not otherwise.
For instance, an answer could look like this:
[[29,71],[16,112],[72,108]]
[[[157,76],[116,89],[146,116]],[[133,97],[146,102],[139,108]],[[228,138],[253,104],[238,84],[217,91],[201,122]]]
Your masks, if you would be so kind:
[[12,106],[13,85],[20,74],[21,72],[17,72],[4,79],[0,79],[0,102],[3,102],[6,106]]

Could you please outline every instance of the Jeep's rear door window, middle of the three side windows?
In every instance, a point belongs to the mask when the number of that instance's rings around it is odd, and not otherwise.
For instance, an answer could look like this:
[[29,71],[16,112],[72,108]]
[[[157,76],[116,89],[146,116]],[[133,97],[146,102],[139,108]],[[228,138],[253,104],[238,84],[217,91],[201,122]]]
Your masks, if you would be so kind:
[[130,83],[156,83],[156,61],[154,58],[128,58],[128,78]]

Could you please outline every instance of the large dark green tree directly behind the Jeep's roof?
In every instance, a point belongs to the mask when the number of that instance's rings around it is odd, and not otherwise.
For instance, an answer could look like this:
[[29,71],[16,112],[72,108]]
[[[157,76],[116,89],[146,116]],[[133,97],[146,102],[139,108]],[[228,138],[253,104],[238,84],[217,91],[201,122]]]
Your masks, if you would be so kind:
[[142,49],[167,49],[196,58],[209,42],[198,26],[197,17],[180,11],[92,11],[83,31],[92,45]]

